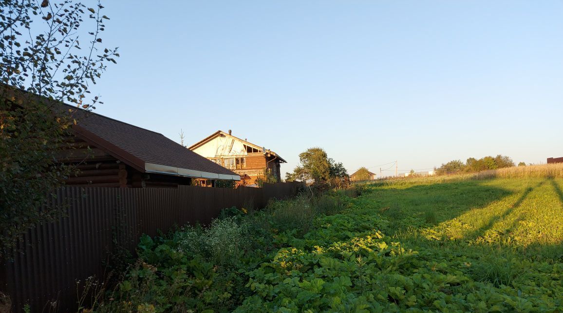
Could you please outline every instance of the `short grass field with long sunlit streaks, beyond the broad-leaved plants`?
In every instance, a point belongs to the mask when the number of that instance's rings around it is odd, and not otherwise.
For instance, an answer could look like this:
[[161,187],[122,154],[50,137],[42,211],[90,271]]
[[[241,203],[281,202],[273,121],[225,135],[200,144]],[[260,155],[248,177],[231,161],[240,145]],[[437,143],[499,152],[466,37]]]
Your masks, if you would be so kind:
[[389,235],[402,241],[563,255],[563,179],[418,179],[371,188],[365,200],[379,207],[396,229]]

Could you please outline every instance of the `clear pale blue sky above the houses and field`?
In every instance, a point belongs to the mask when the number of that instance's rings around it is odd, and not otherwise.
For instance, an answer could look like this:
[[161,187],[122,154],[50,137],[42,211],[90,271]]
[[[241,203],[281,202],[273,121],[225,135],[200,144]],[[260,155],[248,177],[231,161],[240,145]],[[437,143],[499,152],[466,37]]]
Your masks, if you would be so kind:
[[283,173],[315,146],[349,173],[563,156],[561,0],[103,4],[96,112],[176,141],[232,129]]

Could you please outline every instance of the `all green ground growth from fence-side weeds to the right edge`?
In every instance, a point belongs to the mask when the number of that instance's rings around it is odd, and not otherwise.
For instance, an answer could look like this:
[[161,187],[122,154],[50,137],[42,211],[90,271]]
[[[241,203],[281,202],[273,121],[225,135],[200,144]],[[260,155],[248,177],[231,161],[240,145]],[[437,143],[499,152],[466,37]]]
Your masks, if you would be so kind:
[[414,178],[231,208],[209,228],[143,237],[95,310],[559,312],[561,188]]

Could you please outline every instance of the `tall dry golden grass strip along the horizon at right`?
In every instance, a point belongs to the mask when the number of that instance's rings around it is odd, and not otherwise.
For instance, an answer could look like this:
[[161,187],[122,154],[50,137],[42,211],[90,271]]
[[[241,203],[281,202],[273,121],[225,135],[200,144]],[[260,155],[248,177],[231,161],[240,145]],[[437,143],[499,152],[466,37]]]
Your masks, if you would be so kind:
[[472,175],[475,179],[485,178],[563,178],[563,163],[505,167],[481,171]]

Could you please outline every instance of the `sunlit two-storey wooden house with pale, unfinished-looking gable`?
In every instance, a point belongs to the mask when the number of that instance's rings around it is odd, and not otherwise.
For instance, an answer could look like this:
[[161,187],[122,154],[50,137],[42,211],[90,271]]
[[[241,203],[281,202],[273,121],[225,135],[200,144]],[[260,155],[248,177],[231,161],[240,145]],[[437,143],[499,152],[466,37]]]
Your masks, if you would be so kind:
[[189,149],[226,169],[233,170],[243,177],[248,185],[256,184],[257,179],[263,179],[265,174],[280,182],[280,164],[287,163],[274,151],[237,138],[230,130],[229,133],[218,130]]

